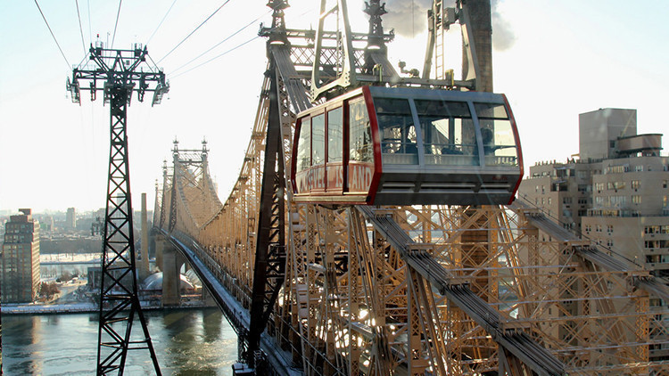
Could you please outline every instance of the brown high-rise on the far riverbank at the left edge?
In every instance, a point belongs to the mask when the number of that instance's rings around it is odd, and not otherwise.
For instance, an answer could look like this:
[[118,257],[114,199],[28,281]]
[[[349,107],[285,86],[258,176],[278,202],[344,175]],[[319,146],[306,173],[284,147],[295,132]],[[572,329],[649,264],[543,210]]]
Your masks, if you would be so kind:
[[29,208],[5,225],[0,265],[3,303],[27,303],[39,291],[39,223]]

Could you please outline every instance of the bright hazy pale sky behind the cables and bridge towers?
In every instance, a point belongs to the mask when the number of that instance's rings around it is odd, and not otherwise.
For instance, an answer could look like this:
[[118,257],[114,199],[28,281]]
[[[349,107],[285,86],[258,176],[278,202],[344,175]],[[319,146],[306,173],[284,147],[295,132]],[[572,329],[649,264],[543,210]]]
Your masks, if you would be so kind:
[[[133,101],[128,110],[134,208],[140,207],[142,192],[153,208],[155,183],[162,179],[163,159],[171,159],[175,138],[183,149],[199,149],[206,138],[211,176],[225,200],[242,166],[260,98],[267,57],[265,40],[257,34],[260,22],[271,22],[266,4],[0,2],[0,211],[74,207],[81,212],[104,206],[109,108],[100,99],[91,102],[87,92],[80,105],[72,103],[65,90],[72,66],[95,41],[113,48],[146,45],[170,83],[160,105]],[[289,4],[289,28],[317,25],[319,2]],[[364,1],[348,4],[351,28],[366,32]],[[389,45],[393,63],[422,69],[430,4],[386,2],[384,28],[396,34]],[[637,109],[640,134],[669,134],[667,19],[665,0],[492,0],[494,88],[507,94],[516,116],[525,173],[537,161],[565,160],[578,152],[582,112]],[[459,44],[458,28],[452,28],[447,65],[456,72]],[[666,139],[663,144],[666,148]]]

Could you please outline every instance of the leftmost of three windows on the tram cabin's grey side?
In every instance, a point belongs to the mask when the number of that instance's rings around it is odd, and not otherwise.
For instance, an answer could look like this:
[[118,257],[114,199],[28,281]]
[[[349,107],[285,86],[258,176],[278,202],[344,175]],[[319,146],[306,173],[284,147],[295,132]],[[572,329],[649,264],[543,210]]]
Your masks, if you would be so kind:
[[417,165],[416,127],[406,99],[375,98],[384,164]]

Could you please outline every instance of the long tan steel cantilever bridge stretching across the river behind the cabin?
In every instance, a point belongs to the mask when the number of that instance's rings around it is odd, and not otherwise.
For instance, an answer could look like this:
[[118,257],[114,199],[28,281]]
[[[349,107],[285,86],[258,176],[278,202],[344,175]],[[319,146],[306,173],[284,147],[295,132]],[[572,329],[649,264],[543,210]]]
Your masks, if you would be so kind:
[[[307,37],[284,31],[265,30]],[[667,345],[649,309],[649,297],[669,301],[665,284],[537,208],[296,204],[287,176],[295,113],[311,106],[308,45],[268,43],[225,201],[206,144],[175,143],[156,188],[162,257],[176,249],[193,266],[247,363],[307,375],[669,374],[669,361],[648,360]]]

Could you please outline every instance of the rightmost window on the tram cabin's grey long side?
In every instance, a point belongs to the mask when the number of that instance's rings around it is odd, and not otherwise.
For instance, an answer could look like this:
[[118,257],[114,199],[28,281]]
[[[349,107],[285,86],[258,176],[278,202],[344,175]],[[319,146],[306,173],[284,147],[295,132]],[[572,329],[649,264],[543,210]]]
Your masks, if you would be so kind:
[[518,166],[516,136],[503,104],[474,103],[486,166]]

